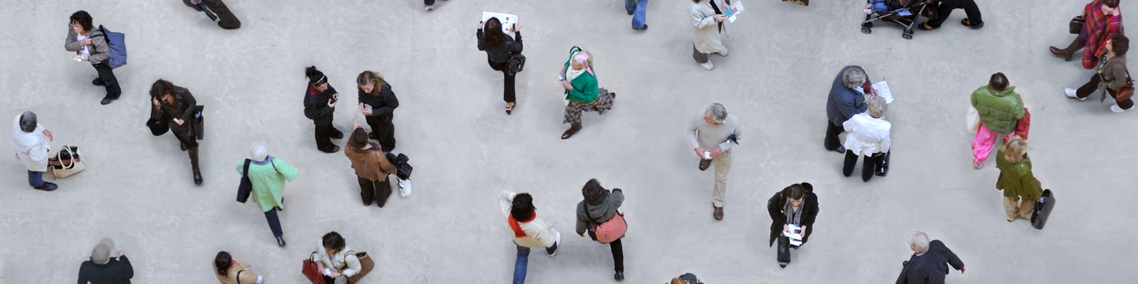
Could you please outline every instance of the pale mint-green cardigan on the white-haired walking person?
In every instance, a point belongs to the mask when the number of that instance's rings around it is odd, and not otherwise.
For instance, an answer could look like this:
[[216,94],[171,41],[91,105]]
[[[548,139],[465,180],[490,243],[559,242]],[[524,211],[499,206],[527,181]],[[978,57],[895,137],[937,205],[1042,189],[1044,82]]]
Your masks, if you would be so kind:
[[[284,206],[281,204],[284,181],[295,181],[297,172],[296,167],[279,158],[270,156],[269,162],[265,165],[257,165],[256,161],[249,164],[249,182],[253,183],[253,194],[249,195],[254,202],[261,206],[262,212],[273,210],[274,207],[284,209]],[[237,164],[238,175],[241,174],[242,167],[245,167],[245,160]]]

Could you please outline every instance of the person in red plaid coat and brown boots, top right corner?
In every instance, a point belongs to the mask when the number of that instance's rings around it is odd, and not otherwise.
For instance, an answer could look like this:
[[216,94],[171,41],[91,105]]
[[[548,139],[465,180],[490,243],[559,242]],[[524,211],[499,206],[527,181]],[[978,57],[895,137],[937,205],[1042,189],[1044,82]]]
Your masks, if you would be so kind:
[[1082,30],[1079,36],[1065,49],[1049,47],[1053,55],[1071,61],[1075,51],[1082,49],[1082,68],[1091,69],[1099,64],[1099,58],[1106,52],[1106,41],[1122,32],[1122,9],[1119,0],[1092,0],[1082,8]]

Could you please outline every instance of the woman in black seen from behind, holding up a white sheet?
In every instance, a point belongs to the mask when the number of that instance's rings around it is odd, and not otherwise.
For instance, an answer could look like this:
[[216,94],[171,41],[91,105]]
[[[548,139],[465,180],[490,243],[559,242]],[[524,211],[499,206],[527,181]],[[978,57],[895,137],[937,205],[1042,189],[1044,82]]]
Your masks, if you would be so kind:
[[505,100],[506,115],[513,111],[513,107],[518,102],[513,89],[513,78],[517,74],[510,72],[510,58],[514,55],[521,55],[522,50],[521,24],[514,23],[510,31],[513,31],[514,37],[503,33],[502,22],[492,17],[485,24],[478,22],[478,32],[475,33],[478,36],[478,50],[486,51],[486,61],[490,68],[502,72],[502,75],[505,76],[502,99]]

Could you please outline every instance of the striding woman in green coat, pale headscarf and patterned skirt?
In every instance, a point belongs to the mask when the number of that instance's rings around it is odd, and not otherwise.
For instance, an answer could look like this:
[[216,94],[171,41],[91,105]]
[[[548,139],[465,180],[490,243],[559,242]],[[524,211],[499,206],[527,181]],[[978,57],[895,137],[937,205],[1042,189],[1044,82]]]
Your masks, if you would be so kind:
[[572,137],[580,131],[580,112],[596,111],[604,115],[612,109],[616,93],[599,87],[596,73],[593,72],[593,55],[574,47],[569,50],[569,60],[561,69],[561,86],[566,89],[566,119],[572,126],[561,134],[561,139]]

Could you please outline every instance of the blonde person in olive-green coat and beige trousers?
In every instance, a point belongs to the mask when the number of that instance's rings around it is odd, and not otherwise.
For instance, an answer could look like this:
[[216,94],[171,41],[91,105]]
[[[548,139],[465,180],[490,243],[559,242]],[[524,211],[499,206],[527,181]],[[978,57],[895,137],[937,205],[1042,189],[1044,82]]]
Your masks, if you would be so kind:
[[1028,141],[1019,135],[1012,136],[996,152],[996,168],[999,168],[999,179],[996,189],[1004,191],[1004,210],[1007,222],[1016,217],[1031,219],[1031,211],[1042,195],[1039,179],[1031,174],[1031,159],[1028,158]]

